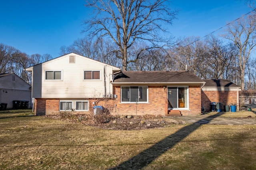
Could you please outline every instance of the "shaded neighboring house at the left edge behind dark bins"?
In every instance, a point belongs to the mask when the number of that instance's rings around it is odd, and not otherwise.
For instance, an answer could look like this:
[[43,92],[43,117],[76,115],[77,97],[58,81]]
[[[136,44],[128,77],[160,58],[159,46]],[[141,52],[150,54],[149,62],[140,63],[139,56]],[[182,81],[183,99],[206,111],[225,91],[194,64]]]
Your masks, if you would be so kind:
[[0,74],[0,103],[11,109],[14,100],[28,101],[32,107],[31,86],[14,73]]

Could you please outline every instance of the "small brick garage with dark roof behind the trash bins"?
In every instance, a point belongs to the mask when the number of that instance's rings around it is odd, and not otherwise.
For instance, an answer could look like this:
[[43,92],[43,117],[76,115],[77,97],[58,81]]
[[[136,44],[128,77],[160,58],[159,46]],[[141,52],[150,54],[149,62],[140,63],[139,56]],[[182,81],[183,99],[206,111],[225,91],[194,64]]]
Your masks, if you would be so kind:
[[202,105],[206,111],[210,110],[210,103],[221,103],[221,109],[224,110],[224,106],[236,104],[239,109],[239,91],[241,87],[222,79],[210,79],[204,80],[206,83],[202,87]]

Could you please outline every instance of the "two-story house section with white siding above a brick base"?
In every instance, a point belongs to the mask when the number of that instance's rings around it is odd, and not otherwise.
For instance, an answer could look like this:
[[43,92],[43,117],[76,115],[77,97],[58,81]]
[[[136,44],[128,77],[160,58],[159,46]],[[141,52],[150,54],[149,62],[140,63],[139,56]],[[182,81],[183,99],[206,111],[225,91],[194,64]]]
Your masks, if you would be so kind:
[[112,98],[112,75],[120,68],[69,53],[26,68],[32,73],[35,115],[92,110],[95,99]]

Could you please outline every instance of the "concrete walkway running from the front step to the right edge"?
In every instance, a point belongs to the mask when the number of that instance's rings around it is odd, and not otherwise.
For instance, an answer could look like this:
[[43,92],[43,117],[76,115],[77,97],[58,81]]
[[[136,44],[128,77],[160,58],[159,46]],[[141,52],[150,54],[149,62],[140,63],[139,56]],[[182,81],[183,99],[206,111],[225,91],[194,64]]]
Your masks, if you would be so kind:
[[170,118],[199,125],[256,125],[256,119],[232,119],[216,115],[183,115],[173,117],[170,116]]

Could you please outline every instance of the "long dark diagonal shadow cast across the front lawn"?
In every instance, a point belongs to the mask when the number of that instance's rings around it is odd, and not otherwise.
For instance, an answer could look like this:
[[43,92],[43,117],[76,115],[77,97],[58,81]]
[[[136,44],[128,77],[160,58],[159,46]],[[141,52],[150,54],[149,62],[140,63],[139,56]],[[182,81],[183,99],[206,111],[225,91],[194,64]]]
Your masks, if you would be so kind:
[[158,156],[166,152],[168,149],[172,148],[178,142],[182,141],[185,137],[187,137],[190,133],[198,129],[202,124],[209,123],[215,117],[224,114],[224,112],[216,113],[215,115],[210,115],[204,119],[200,119],[199,121],[185,126],[176,133],[169,135],[168,137],[164,138],[162,141],[152,145],[152,147],[143,150],[136,156],[130,158],[129,160],[122,162],[118,166],[114,168],[110,168],[109,170],[116,170],[116,169],[132,169],[138,170],[142,169],[143,167],[150,164],[153,160],[155,160]]

